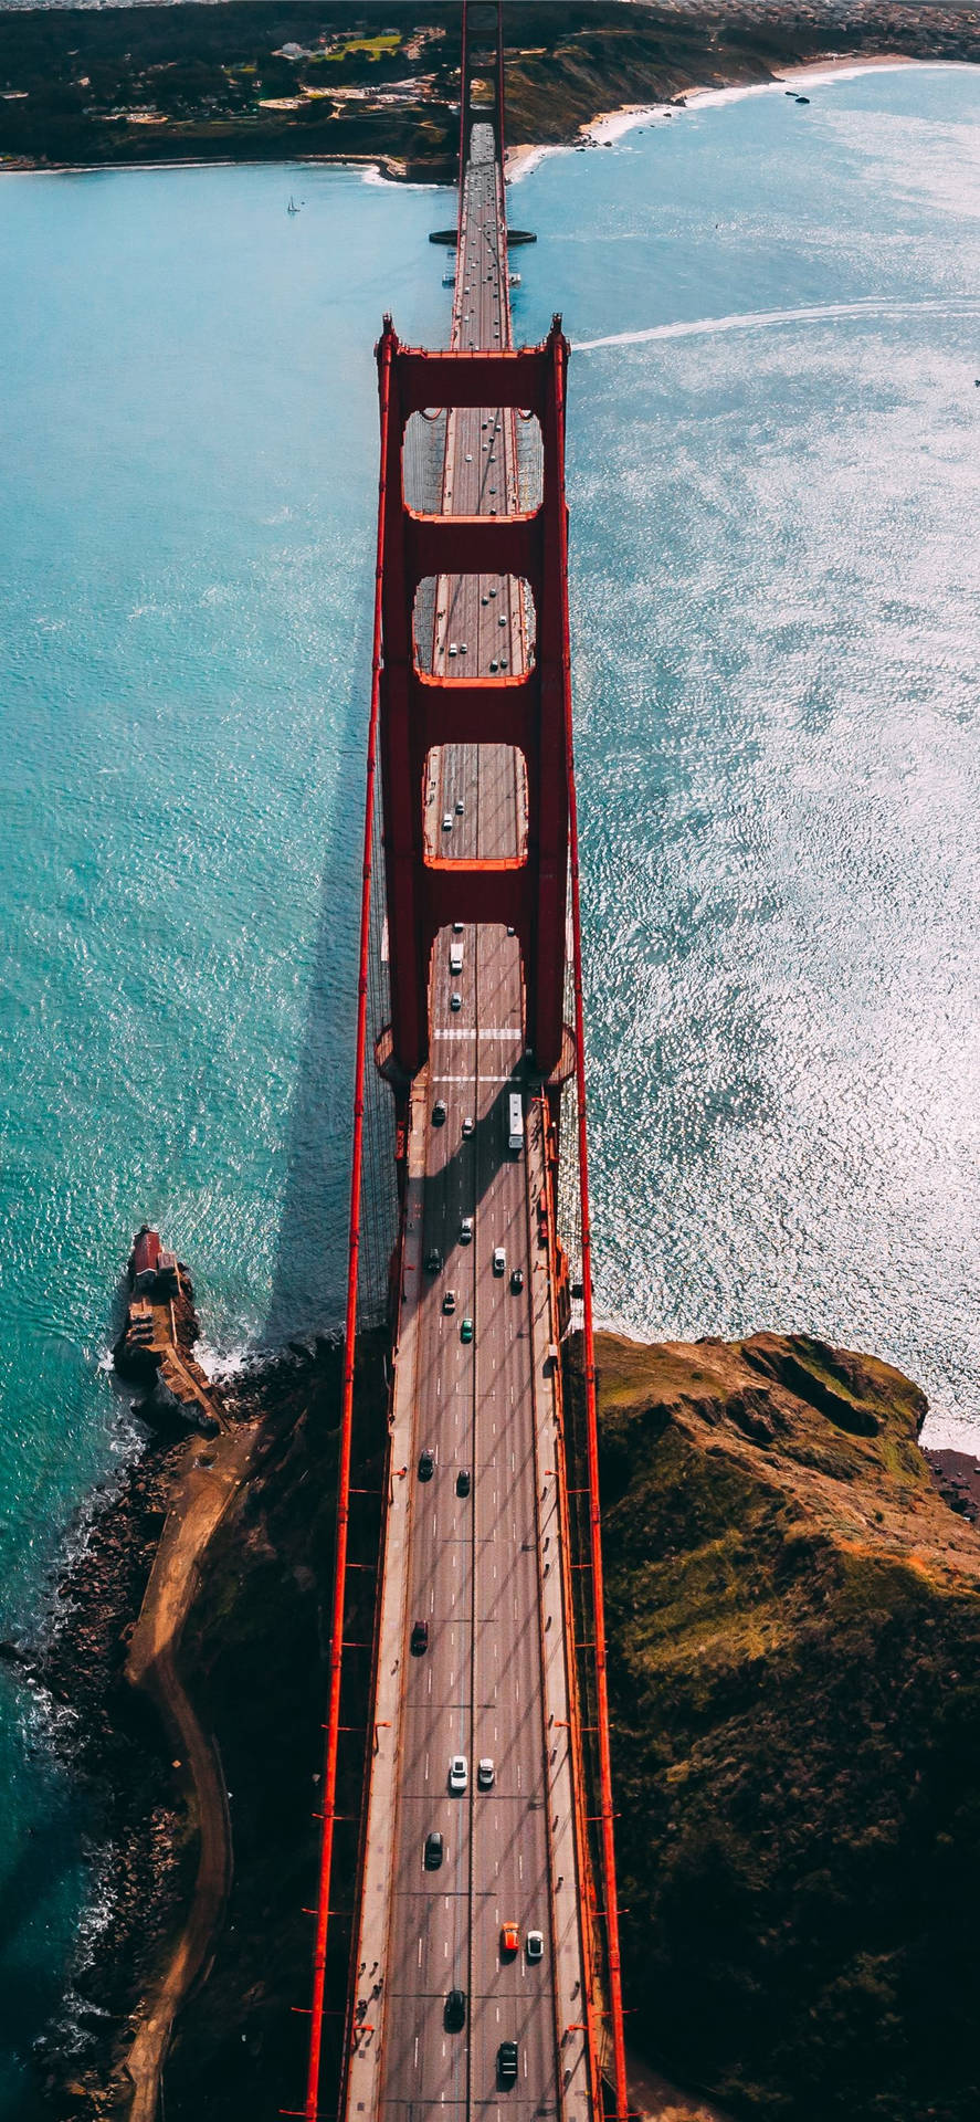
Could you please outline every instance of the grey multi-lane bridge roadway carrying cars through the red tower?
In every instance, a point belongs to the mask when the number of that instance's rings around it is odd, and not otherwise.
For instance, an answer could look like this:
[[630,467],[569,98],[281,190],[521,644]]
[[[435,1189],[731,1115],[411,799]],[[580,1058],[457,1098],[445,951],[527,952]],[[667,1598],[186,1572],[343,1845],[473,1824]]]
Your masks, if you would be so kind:
[[[460,212],[454,346],[509,344],[503,174],[492,132],[473,127]],[[505,514],[518,492],[515,418],[484,407],[448,422],[443,509]],[[456,656],[450,658],[450,645]],[[522,590],[507,577],[450,577],[435,590],[433,668],[524,668]],[[443,830],[443,821],[452,825]],[[431,760],[426,838],[452,859],[520,853],[526,789],[520,755],[448,745]],[[450,949],[462,949],[462,974]],[[452,1010],[452,995],[460,1008]],[[431,1065],[412,1093],[403,1292],[395,1347],[392,1498],[388,1507],[375,1755],[356,1948],[354,2118],[433,2109],[590,2114],[581,1895],[560,1517],[552,1252],[539,1241],[545,1116],[526,1080],[520,949],[494,927],[441,934],[433,953]],[[507,1099],[522,1091],[526,1144],[507,1148]],[[433,1106],[445,1103],[445,1123]],[[462,1133],[471,1118],[473,1131]],[[462,1241],[462,1218],[473,1235]],[[494,1246],[507,1269],[492,1271]],[[428,1273],[437,1248],[443,1265]],[[524,1288],[511,1290],[520,1267]],[[443,1311],[445,1290],[454,1314]],[[460,1339],[462,1318],[475,1339]],[[435,1475],[418,1479],[431,1449]],[[456,1475],[471,1475],[458,1496]],[[428,1651],[412,1657],[414,1619]],[[448,1791],[450,1755],[469,1789]],[[494,1761],[492,1791],[477,1761]],[[426,1872],[424,1838],[443,1836]],[[501,1954],[501,1925],[522,1948]],[[543,1961],[526,1933],[545,1935]],[[445,1995],[467,1995],[450,2031]],[[496,2050],[518,2041],[518,2084],[503,2090]]]

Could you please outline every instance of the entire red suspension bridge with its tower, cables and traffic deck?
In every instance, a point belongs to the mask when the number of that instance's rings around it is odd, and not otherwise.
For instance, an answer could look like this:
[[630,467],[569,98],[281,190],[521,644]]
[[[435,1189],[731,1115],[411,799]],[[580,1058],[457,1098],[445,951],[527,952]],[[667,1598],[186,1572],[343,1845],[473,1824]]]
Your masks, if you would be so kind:
[[[465,4],[450,348],[407,348],[390,318],[378,344],[331,1689],[310,2067],[291,2109],[305,2122],[628,2116],[592,1356],[568,344],[556,316],[543,344],[513,346],[503,140],[501,6]],[[358,1600],[363,1613],[352,1570],[365,1568],[350,1547],[354,1379],[358,1330],[380,1320],[390,1386],[378,1596],[369,1642],[352,1642]],[[346,1721],[354,1666],[367,1732],[363,1717],[358,1729]],[[358,1757],[348,1865],[337,1831]]]

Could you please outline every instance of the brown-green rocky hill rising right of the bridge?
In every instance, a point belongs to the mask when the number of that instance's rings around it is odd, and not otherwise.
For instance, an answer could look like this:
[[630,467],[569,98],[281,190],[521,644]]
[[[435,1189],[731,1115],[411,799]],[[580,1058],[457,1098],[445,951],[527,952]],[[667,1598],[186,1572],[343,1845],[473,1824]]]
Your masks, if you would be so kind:
[[980,1532],[925,1398],[802,1335],[596,1354],[632,2039],[732,2116],[967,2122]]

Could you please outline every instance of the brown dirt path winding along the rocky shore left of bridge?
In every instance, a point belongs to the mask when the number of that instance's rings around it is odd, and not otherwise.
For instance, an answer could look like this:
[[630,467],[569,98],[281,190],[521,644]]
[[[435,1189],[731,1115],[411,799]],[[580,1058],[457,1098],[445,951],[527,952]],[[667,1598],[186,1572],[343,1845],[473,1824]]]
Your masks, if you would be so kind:
[[246,1479],[259,1424],[187,1445],[174,1500],[151,1570],[125,1676],[159,1708],[185,1789],[197,1812],[199,1861],[187,1920],[168,1965],[144,1997],[134,2043],[121,2065],[132,2086],[129,2122],[157,2122],[159,2080],[176,2014],[210,1965],[231,1891],[231,1823],[216,1740],[204,1732],[180,1683],[178,1649],[199,1587],[199,1564],[225,1511]]

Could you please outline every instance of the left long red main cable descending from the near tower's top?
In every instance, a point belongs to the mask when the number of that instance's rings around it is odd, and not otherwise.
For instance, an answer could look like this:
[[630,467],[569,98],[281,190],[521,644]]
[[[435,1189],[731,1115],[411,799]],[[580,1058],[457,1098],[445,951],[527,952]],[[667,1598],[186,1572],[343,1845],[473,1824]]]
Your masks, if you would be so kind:
[[356,1282],[361,1256],[361,1173],[365,1159],[365,1055],[367,1055],[367,974],[371,944],[371,849],[373,849],[373,785],[378,764],[378,702],[382,675],[382,579],[384,579],[384,482],[388,465],[388,399],[390,399],[390,337],[382,340],[380,397],[382,397],[382,471],[378,484],[378,562],[373,592],[373,645],[371,645],[371,717],[367,730],[367,800],[365,800],[365,868],[361,885],[361,963],[356,982],[356,1050],[354,1050],[354,1144],[350,1161],[350,1252],[348,1252],[348,1307],[344,1322],[344,1392],[339,1413],[339,1462],[337,1462],[337,1541],[333,1551],[333,1615],[331,1615],[331,1664],[327,1700],[327,1751],[322,1778],[322,1838],[320,1838],[320,1884],[316,1901],[316,1946],[314,1946],[314,1997],[310,2014],[310,2065],[305,2080],[303,2122],[316,2122],[320,2099],[320,2050],[322,2050],[322,1988],[327,1973],[327,1927],[331,1906],[331,1863],[333,1863],[333,1821],[337,1810],[337,1740],[339,1740],[339,1683],[344,1662],[344,1585],[348,1564],[348,1521],[350,1521],[350,1441],[354,1424],[354,1350],[356,1350]]

